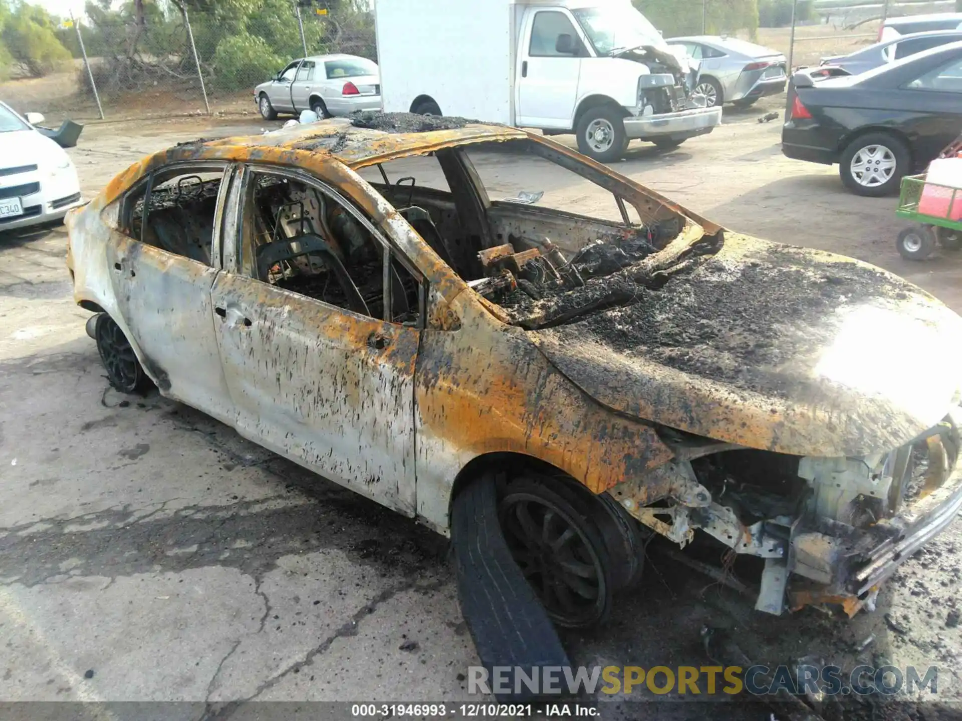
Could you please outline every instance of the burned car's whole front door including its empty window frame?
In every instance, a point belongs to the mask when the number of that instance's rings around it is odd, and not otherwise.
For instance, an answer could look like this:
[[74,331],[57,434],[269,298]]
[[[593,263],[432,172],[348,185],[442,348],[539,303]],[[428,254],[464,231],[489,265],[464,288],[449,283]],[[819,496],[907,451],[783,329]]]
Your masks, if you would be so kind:
[[307,174],[244,166],[227,202],[211,296],[236,428],[413,515],[422,279]]

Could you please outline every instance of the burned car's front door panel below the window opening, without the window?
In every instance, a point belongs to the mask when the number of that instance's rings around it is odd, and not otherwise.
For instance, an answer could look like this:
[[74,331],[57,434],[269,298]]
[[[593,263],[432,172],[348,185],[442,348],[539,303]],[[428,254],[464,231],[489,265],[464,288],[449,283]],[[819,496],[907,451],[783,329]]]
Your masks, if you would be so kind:
[[418,331],[231,272],[212,298],[241,435],[414,515]]

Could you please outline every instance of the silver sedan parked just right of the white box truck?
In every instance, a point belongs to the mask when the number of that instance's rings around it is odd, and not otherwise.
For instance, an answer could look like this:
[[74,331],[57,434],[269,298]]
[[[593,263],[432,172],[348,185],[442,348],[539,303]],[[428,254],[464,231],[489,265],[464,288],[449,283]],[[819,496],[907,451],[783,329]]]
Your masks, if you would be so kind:
[[738,37],[672,37],[670,46],[682,47],[701,63],[695,97],[708,107],[732,103],[747,108],[760,97],[785,89],[785,56],[772,48]]

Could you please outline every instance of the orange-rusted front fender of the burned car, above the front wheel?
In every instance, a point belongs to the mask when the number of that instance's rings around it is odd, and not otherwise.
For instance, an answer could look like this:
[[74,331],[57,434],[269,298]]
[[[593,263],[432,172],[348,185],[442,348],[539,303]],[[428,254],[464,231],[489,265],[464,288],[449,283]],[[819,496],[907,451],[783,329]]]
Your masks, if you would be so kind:
[[429,526],[447,533],[454,481],[486,454],[543,460],[595,493],[671,460],[651,425],[595,402],[473,291],[452,311],[461,327],[423,331],[418,352],[418,517]]

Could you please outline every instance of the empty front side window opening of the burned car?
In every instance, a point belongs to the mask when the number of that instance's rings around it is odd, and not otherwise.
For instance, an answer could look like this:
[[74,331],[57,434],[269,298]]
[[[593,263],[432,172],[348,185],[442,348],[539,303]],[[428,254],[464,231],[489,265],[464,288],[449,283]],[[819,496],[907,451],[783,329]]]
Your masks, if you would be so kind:
[[247,192],[244,273],[348,311],[418,326],[418,279],[338,200],[274,174],[255,173]]

